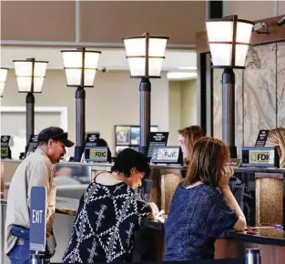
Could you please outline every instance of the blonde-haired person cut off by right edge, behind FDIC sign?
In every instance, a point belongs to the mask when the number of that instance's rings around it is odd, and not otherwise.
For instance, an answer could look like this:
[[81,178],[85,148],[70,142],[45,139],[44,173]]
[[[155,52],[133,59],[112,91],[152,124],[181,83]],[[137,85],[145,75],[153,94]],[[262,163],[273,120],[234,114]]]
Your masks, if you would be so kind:
[[280,168],[285,168],[285,128],[271,129],[267,137],[267,145],[277,148],[280,157]]

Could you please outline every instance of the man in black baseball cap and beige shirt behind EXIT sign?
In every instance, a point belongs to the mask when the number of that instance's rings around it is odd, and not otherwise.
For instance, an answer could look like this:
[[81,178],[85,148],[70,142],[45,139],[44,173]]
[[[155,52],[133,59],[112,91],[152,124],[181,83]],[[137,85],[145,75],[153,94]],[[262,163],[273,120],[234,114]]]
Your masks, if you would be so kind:
[[55,254],[53,226],[56,212],[54,164],[74,143],[60,127],[47,127],[38,135],[36,151],[25,157],[12,178],[7,198],[5,253],[11,263],[29,263],[29,207],[31,188],[46,187],[46,258]]

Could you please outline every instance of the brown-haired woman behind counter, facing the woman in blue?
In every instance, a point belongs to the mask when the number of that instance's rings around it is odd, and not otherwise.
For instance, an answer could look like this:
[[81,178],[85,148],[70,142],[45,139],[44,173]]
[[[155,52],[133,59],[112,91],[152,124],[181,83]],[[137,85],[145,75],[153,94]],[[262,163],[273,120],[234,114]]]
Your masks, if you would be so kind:
[[205,137],[205,132],[199,126],[185,127],[178,130],[179,146],[186,164],[189,162],[195,142],[201,137]]

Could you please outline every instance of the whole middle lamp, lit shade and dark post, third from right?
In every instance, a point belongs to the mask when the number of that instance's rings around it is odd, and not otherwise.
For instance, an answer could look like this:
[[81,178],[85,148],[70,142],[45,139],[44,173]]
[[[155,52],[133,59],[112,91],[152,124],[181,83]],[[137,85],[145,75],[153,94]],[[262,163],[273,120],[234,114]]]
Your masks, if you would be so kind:
[[95,75],[100,51],[87,50],[85,47],[76,50],[62,50],[66,70],[67,86],[76,89],[76,148],[75,161],[80,161],[85,137],[85,87],[94,87]]

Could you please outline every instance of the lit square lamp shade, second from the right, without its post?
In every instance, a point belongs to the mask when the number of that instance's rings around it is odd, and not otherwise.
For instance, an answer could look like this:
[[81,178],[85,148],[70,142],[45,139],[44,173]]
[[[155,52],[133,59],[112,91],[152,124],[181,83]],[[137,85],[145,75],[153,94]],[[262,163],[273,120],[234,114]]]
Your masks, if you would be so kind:
[[130,75],[134,78],[159,78],[169,37],[127,36],[124,44]]

